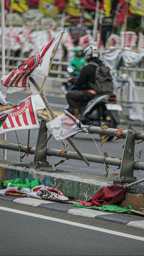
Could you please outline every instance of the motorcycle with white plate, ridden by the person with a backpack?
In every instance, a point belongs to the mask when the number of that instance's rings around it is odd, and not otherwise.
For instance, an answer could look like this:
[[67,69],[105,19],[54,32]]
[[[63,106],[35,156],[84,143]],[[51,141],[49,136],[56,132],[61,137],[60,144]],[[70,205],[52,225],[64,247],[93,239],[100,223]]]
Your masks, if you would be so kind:
[[[74,89],[74,85],[66,81],[66,86],[62,86],[61,90],[64,94]],[[122,106],[116,104],[116,95],[111,92],[94,95],[94,98],[88,103],[80,102],[79,111],[82,113],[81,122],[84,125],[104,126],[117,128],[119,124],[119,111]],[[70,112],[69,105],[65,109]],[[109,136],[108,140],[112,140],[113,136]]]

